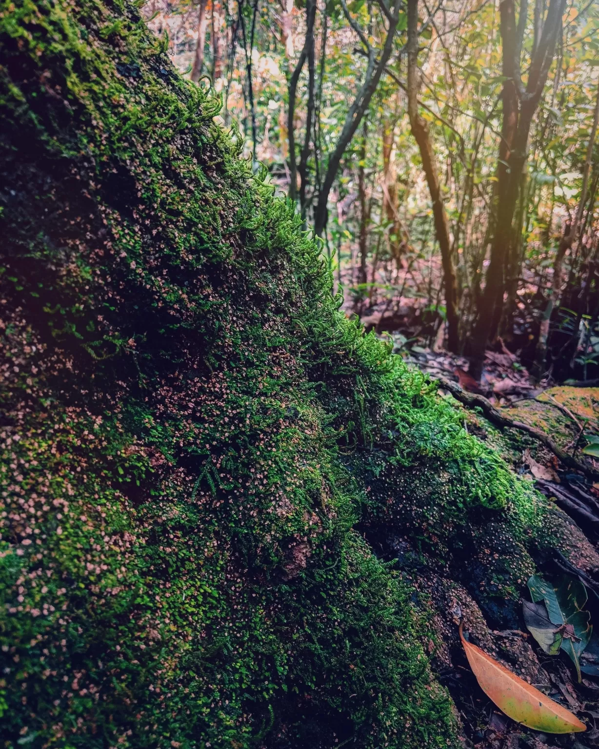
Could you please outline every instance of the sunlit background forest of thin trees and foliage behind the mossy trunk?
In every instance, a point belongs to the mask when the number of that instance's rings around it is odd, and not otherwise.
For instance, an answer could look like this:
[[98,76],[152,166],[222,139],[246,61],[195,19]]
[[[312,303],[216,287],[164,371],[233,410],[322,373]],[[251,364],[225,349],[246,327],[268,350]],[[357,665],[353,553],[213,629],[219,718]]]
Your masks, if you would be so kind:
[[322,236],[346,309],[418,311],[475,377],[497,336],[536,380],[598,377],[596,3],[143,12]]

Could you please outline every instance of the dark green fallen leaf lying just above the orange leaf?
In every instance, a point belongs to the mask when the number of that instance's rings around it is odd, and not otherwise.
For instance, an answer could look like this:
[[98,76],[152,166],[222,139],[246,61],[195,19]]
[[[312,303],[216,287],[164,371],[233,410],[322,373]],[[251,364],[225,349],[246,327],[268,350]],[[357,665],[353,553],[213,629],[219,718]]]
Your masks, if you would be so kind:
[[587,600],[585,586],[568,575],[562,575],[555,585],[550,585],[536,574],[530,577],[528,586],[532,600],[535,603],[544,601],[550,621],[559,628],[562,635],[560,648],[568,653],[574,663],[580,684],[583,680],[580,654],[589,643],[593,629],[589,621],[591,614],[583,610]]

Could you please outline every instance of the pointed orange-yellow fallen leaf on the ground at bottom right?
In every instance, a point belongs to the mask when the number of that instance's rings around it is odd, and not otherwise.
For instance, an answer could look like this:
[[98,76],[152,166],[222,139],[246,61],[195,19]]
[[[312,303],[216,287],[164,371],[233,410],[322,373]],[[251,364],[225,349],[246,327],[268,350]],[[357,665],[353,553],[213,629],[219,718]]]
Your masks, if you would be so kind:
[[547,695],[527,684],[464,637],[460,640],[481,689],[513,721],[545,733],[578,733],[586,725]]

